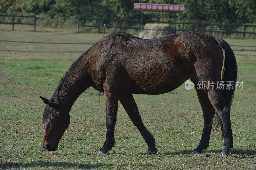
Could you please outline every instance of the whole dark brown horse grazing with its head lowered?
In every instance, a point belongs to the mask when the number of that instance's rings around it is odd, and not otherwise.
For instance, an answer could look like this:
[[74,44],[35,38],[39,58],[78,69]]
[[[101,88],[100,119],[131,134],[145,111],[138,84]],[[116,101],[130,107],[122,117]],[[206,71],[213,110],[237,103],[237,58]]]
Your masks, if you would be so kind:
[[[225,62],[223,66],[223,52]],[[115,144],[114,131],[118,100],[148,144],[148,154],[155,154],[155,138],[145,128],[132,94],[163,94],[178,88],[188,78],[197,82],[236,81],[237,66],[233,51],[224,40],[197,31],[185,31],[155,39],[140,39],[116,32],[109,34],[82,54],[60,80],[43,114],[43,147],[55,151],[70,123],[69,111],[77,97],[88,87],[104,92],[107,135],[97,154],[107,153]],[[203,109],[204,130],[192,153],[202,153],[209,145],[214,115],[221,127],[224,149],[233,146],[230,106],[233,89],[197,89]],[[214,121],[215,122],[215,121]]]

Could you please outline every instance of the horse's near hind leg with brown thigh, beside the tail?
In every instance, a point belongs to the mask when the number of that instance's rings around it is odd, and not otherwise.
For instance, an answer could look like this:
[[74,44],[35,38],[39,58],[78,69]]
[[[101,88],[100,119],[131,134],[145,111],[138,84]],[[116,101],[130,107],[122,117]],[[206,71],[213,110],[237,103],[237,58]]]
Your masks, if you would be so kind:
[[[224,149],[220,153],[220,156],[226,157],[229,154],[229,150],[233,147],[233,137],[228,101],[225,101],[222,91],[217,89],[217,82],[221,80],[223,53],[221,49],[210,52],[212,53],[211,56],[201,56],[196,61],[194,64],[195,71],[190,72],[190,78],[195,83],[198,81],[201,81],[201,84],[205,82],[205,88],[200,87],[204,90],[212,106],[218,113],[224,139]],[[212,81],[214,87],[208,86]]]

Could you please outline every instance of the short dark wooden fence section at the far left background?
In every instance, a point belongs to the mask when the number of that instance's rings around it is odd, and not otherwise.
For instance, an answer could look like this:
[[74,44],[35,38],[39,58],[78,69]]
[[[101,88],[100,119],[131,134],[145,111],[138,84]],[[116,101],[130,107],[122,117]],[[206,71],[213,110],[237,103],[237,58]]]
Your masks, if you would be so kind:
[[[36,31],[36,15],[34,16],[24,16],[24,15],[0,15],[0,17],[11,17],[8,20],[12,20],[12,22],[1,22],[0,24],[12,24],[12,30],[14,30],[14,24],[22,24],[22,25],[34,25],[34,31]],[[24,22],[15,22],[15,18],[33,18],[33,23],[24,23]]]

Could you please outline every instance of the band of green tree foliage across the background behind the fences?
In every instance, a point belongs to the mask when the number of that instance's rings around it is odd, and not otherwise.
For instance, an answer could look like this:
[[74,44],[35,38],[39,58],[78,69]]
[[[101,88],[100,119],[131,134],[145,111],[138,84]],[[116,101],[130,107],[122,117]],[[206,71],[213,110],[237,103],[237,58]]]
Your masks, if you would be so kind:
[[[176,21],[207,23],[254,23],[255,0],[1,0],[2,14],[37,14],[48,26],[75,24],[77,16],[140,19],[133,3],[183,4]],[[172,12],[143,12],[145,20],[175,21]],[[131,24],[130,24],[131,26]]]

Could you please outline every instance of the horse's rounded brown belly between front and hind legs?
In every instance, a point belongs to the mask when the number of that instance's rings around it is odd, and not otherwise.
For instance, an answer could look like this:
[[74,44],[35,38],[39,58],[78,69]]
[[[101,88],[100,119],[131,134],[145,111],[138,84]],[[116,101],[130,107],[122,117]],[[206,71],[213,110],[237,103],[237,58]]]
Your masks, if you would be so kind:
[[133,70],[124,76],[121,92],[163,94],[178,88],[188,78],[187,73],[180,69]]

